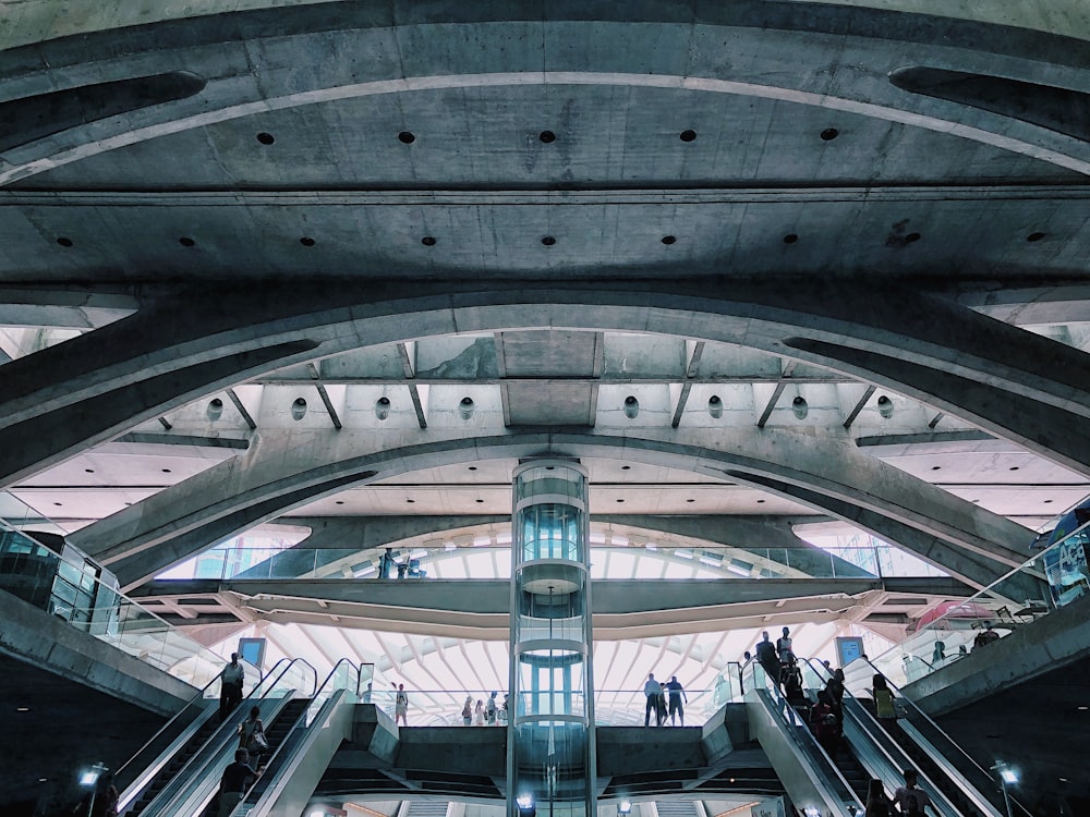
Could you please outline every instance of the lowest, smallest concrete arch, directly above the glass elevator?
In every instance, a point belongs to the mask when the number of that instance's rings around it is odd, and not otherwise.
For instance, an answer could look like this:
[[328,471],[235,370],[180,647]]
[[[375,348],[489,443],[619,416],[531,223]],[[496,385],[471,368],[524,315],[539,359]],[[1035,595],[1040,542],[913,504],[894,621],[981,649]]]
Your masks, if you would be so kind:
[[[980,586],[1024,561],[1029,532],[965,500],[861,454],[850,441],[756,429],[663,432],[642,439],[603,431],[508,432],[452,437],[405,431],[280,432],[261,438],[243,456],[216,465],[149,497],[70,539],[110,566],[126,588],[138,585],[216,541],[348,485],[421,468],[479,460],[552,455],[625,459],[731,478],[807,486],[814,502],[843,513],[844,501],[871,509],[870,529],[931,561],[936,551],[901,541],[901,526],[925,541],[948,542],[942,566]],[[427,441],[424,441],[427,440]],[[892,524],[885,524],[889,520]],[[891,536],[889,534],[897,534]]]

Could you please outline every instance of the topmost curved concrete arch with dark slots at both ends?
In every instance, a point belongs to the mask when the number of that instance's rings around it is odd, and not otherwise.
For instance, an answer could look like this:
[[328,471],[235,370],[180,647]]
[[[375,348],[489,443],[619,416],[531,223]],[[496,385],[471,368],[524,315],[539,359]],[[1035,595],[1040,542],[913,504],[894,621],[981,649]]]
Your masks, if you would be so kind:
[[[1049,81],[1085,87],[1078,69],[1055,76],[1059,61],[1079,64],[1077,54],[1086,50],[1079,40],[944,16],[828,4],[815,5],[804,15],[796,4],[752,0],[718,7],[695,1],[664,9],[651,4],[634,13],[638,19],[632,20],[633,12],[623,5],[603,8],[586,21],[578,4],[543,10],[528,0],[482,8],[447,4],[439,15],[346,4],[338,5],[331,17],[326,7],[303,5],[278,9],[275,15],[238,11],[134,27],[124,32],[123,50],[116,45],[119,32],[19,49],[12,66],[0,61],[0,73],[15,97],[81,81],[121,81],[165,65],[203,72],[208,82],[203,93],[187,99],[74,126],[5,151],[0,184],[167,134],[329,100],[444,87],[580,83],[820,106],[938,131],[1090,173],[1090,153],[1081,139],[979,108],[906,94],[885,81],[891,72],[922,61],[1034,82],[1042,78],[1038,61],[1044,59],[1052,63]],[[470,26],[472,35],[463,31]],[[238,34],[232,36],[231,29]],[[891,33],[904,39],[898,41]],[[475,47],[462,47],[470,36]],[[608,59],[589,71],[583,49],[550,47],[554,41],[590,38],[620,45],[605,49],[603,57],[607,53]],[[510,48],[512,41],[522,47]],[[300,45],[291,48],[288,42]],[[996,52],[989,53],[984,44]],[[368,60],[308,58],[349,50],[367,53]],[[803,64],[843,63],[852,70],[785,72],[785,51]],[[301,64],[307,70],[300,70]],[[719,76],[725,66],[729,76]],[[413,69],[420,73],[411,75]],[[780,84],[768,85],[768,77]]]

